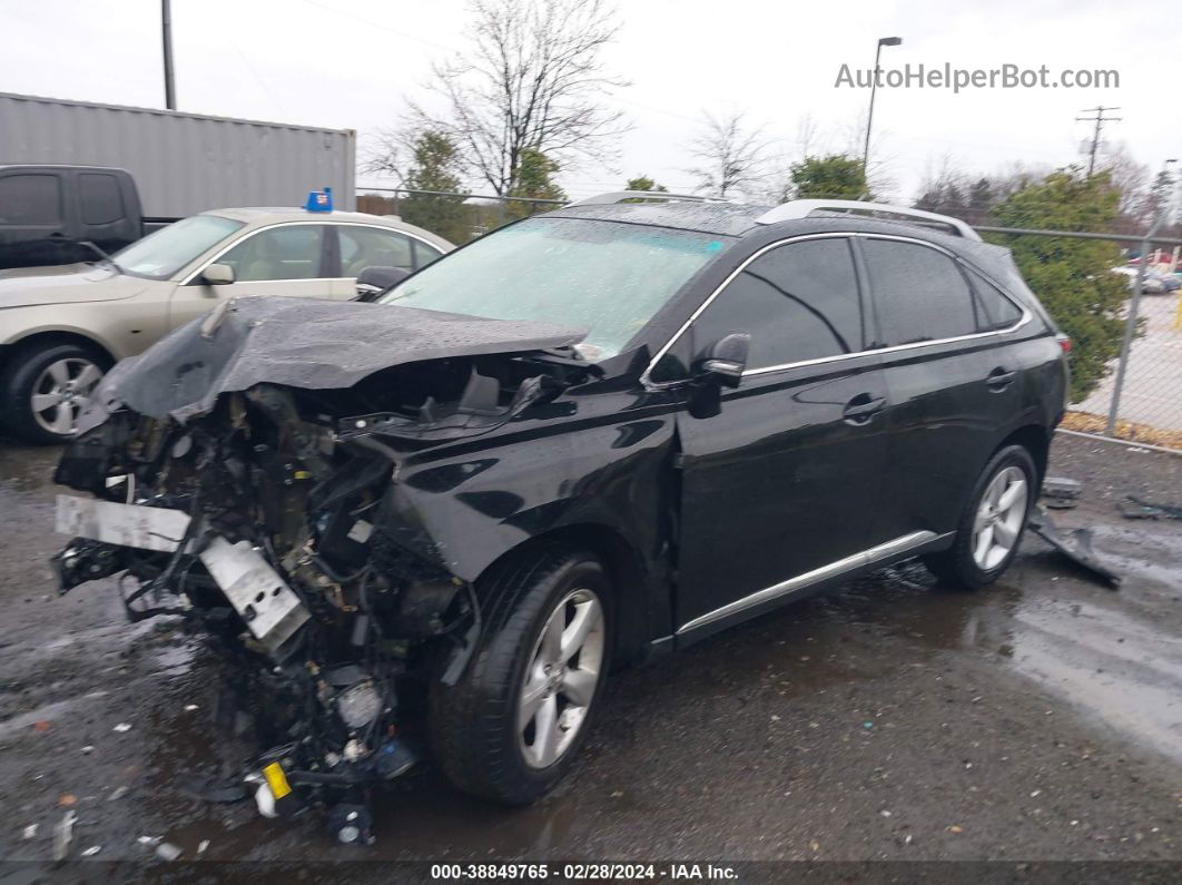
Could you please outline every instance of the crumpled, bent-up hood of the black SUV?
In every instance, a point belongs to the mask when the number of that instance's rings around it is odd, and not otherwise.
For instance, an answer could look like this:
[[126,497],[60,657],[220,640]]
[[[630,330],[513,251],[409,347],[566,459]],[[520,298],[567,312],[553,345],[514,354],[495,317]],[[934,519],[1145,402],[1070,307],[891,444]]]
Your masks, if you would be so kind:
[[585,334],[397,305],[238,298],[116,365],[96,390],[79,430],[102,423],[121,404],[184,422],[209,412],[221,393],[255,384],[350,388],[407,363],[564,347]]

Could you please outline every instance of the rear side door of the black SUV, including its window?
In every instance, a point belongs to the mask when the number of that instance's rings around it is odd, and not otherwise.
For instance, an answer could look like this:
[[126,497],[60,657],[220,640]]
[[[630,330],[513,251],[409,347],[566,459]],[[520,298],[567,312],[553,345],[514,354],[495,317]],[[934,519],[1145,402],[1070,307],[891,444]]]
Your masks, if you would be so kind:
[[952,255],[903,237],[858,237],[878,320],[890,403],[876,538],[955,528],[999,438],[1013,373],[992,351]]

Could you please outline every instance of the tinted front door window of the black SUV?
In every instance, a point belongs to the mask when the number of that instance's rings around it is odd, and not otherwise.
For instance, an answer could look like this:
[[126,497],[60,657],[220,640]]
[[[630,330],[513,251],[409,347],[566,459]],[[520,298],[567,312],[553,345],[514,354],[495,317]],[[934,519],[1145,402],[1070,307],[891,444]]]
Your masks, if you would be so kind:
[[862,308],[849,242],[788,243],[747,265],[694,320],[697,356],[729,332],[751,336],[749,369],[862,350]]

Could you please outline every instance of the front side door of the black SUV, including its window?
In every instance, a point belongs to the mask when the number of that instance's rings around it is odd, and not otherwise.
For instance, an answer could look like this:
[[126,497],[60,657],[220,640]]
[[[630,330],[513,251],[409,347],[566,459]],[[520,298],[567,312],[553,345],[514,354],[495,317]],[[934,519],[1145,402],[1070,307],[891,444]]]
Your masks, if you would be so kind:
[[868,546],[886,389],[864,325],[844,236],[756,253],[690,325],[699,359],[730,332],[752,345],[720,414],[678,417],[680,632],[741,619]]

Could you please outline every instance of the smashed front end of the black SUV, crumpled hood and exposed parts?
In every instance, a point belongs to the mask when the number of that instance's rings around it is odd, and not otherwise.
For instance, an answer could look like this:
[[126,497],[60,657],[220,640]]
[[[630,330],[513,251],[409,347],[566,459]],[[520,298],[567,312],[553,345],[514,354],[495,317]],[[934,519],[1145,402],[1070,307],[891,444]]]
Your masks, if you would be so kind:
[[[480,631],[472,584],[428,554],[423,522],[394,502],[400,469],[502,427],[587,367],[553,350],[567,336],[518,334],[400,357],[394,340],[377,363],[353,347],[304,377],[291,347],[261,334],[286,308],[246,301],[216,319],[225,327],[194,324],[109,376],[102,414],[57,470],[93,497],[59,497],[57,527],[73,540],[53,566],[61,592],[123,573],[131,620],[175,614],[219,637],[268,747],[243,772],[260,811],[342,802],[335,831],[364,841],[368,790],[415,759],[400,691],[457,678]],[[364,321],[370,341],[377,311],[423,313],[331,307]],[[416,320],[424,336],[440,323]],[[552,347],[525,346],[538,341]]]

